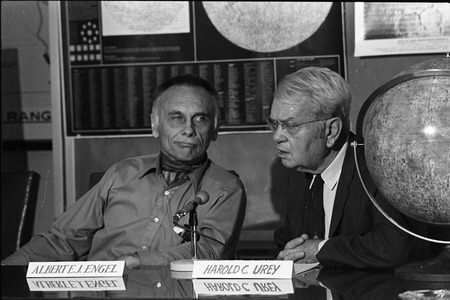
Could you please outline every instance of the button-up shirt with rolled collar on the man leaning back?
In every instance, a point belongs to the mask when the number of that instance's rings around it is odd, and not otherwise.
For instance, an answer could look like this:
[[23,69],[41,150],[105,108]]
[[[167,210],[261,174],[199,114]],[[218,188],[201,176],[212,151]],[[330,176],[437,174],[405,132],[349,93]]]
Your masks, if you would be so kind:
[[[158,155],[125,159],[64,212],[51,230],[35,236],[4,264],[29,261],[115,260],[137,252],[142,264],[192,257],[191,243],[175,233],[173,215],[206,191],[197,207],[198,230],[235,249],[245,216],[246,195],[239,178],[208,160],[169,186]],[[189,215],[180,220],[188,223]],[[201,237],[198,258],[229,259],[232,251]]]

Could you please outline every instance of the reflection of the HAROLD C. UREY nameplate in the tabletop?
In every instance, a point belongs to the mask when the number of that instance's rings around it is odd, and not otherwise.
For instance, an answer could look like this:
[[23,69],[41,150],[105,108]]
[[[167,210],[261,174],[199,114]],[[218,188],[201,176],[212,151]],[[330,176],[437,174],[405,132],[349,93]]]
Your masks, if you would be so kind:
[[196,295],[285,295],[293,294],[291,279],[193,279]]

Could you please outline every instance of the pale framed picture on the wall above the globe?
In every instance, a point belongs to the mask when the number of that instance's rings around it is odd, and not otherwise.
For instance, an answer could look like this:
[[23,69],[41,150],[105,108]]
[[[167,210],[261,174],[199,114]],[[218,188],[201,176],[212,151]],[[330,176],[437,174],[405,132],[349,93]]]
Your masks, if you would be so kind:
[[355,3],[355,56],[450,51],[450,3]]

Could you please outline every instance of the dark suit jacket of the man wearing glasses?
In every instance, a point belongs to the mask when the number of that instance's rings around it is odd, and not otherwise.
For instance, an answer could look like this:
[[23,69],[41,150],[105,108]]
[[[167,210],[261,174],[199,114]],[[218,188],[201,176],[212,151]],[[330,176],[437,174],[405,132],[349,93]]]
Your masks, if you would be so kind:
[[[353,136],[350,143],[352,141]],[[403,216],[387,202],[370,178],[362,149],[358,150],[358,156],[367,189],[377,203],[402,226],[426,234],[425,225]],[[306,232],[303,224],[306,213],[304,198],[309,188],[306,176],[295,169],[288,172],[285,220],[283,226],[274,234],[275,243],[280,250],[287,242]],[[431,257],[429,243],[397,228],[370,201],[359,179],[353,147],[350,144],[337,186],[329,237],[316,255],[323,266],[393,268]]]

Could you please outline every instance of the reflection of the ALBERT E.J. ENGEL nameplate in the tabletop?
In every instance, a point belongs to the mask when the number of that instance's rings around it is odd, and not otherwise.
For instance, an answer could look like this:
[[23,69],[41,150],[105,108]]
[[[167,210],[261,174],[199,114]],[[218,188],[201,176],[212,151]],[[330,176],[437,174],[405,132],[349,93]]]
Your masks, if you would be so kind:
[[122,277],[27,278],[30,291],[124,291]]

